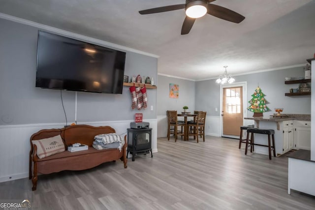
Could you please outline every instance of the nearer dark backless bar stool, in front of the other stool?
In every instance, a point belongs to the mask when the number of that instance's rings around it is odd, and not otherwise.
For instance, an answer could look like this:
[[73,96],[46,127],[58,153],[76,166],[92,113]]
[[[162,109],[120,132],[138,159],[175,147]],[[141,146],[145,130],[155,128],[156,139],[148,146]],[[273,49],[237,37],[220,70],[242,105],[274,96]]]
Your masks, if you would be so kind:
[[[251,139],[249,139],[251,133]],[[261,144],[255,144],[254,143],[254,133],[258,134],[267,134],[268,135],[268,145],[261,145]],[[270,141],[270,135],[272,136],[272,146]],[[268,147],[269,151],[269,159],[271,160],[271,150],[273,150],[274,156],[276,157],[276,150],[275,150],[275,130],[272,129],[259,129],[259,128],[249,128],[247,129],[247,138],[246,138],[246,148],[245,148],[245,154],[247,155],[248,146],[251,144],[251,152],[253,150],[253,146],[262,146],[262,147]]]

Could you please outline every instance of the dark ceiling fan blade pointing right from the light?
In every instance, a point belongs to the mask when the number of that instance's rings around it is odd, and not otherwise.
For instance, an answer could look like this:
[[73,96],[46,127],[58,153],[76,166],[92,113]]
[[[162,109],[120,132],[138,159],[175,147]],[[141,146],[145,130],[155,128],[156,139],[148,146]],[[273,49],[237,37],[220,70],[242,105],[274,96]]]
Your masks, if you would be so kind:
[[237,12],[234,12],[225,7],[216,5],[216,4],[208,4],[208,14],[213,15],[217,18],[221,18],[226,21],[230,21],[233,23],[241,23],[245,17]]

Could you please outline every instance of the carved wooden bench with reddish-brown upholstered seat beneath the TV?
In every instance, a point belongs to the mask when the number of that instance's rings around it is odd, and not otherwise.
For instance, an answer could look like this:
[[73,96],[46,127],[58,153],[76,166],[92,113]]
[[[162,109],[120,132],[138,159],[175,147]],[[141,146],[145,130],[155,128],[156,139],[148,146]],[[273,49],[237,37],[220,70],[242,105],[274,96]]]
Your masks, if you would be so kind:
[[[121,159],[124,162],[124,167],[127,168],[126,135],[125,144],[121,151],[118,149],[95,150],[92,147],[94,137],[105,133],[115,133],[115,129],[110,126],[73,125],[62,129],[44,129],[34,133],[31,136],[29,174],[29,179],[32,179],[33,184],[32,190],[36,190],[37,173],[51,174],[64,170],[85,170],[118,159]],[[65,151],[41,159],[38,158],[36,155],[37,147],[32,144],[32,140],[40,140],[57,135],[61,135]],[[74,143],[88,145],[89,149],[75,152],[67,151],[67,147]]]

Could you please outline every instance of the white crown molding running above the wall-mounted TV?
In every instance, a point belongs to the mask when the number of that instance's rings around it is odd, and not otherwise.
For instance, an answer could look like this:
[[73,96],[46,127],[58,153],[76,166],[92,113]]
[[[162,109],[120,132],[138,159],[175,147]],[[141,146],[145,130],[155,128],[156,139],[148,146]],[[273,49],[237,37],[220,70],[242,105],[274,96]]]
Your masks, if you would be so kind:
[[14,17],[14,16],[11,16],[11,15],[0,13],[0,18],[6,19],[6,20],[9,20],[9,21],[13,21],[13,22],[16,22],[16,23],[29,25],[29,26],[32,26],[32,27],[35,27],[35,28],[38,28],[38,29],[41,29],[41,30],[47,30],[47,31],[50,31],[50,32],[54,32],[54,33],[57,33],[59,35],[67,36],[69,38],[79,39],[81,41],[88,41],[88,42],[90,42],[92,44],[102,45],[104,47],[113,47],[113,48],[116,48],[116,49],[122,50],[122,51],[133,52],[133,53],[137,53],[137,54],[141,54],[141,55],[145,55],[145,56],[149,56],[149,57],[153,57],[153,58],[159,58],[159,56],[151,54],[151,53],[147,53],[147,52],[143,52],[143,51],[140,51],[140,50],[132,49],[132,48],[129,48],[129,47],[125,47],[125,46],[122,46],[122,45],[118,45],[118,44],[114,44],[114,43],[111,43],[111,42],[103,41],[103,40],[100,40],[100,39],[95,39],[95,38],[92,38],[92,37],[89,37],[89,36],[85,36],[85,35],[81,35],[81,34],[78,34],[78,33],[73,33],[73,32],[67,31],[67,30],[54,28],[54,27],[51,27],[51,26],[47,26],[47,25],[44,25],[44,24],[40,24],[40,23],[36,23],[36,22],[33,22],[33,21],[25,20],[25,19],[22,19],[22,18]]

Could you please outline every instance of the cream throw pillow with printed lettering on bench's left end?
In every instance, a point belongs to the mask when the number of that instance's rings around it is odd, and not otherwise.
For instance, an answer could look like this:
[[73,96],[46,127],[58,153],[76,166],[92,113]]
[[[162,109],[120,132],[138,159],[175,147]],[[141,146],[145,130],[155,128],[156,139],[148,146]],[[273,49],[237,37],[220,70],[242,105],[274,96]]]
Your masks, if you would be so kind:
[[64,151],[63,139],[60,135],[47,139],[33,140],[32,143],[37,147],[36,154],[38,158],[48,157]]

